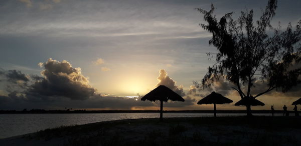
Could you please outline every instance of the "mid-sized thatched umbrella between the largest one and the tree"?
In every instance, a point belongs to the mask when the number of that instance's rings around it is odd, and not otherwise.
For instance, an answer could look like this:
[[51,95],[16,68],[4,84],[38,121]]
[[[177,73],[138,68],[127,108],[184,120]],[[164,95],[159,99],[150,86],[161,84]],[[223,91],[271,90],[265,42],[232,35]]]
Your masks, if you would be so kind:
[[216,116],[216,105],[215,104],[224,104],[224,103],[231,103],[233,100],[223,96],[222,94],[212,92],[211,94],[207,95],[200,101],[198,104],[213,104],[214,105],[214,116]]

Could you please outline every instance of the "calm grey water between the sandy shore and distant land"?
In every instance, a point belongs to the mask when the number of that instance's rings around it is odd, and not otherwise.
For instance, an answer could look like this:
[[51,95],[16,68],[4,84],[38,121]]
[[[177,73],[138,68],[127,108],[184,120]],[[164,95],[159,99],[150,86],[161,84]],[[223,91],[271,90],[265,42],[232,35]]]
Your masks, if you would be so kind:
[[[11,137],[61,125],[85,124],[130,118],[155,118],[160,113],[50,113],[50,114],[0,114],[0,138]],[[253,113],[254,115],[270,115]],[[275,113],[281,115],[281,113]],[[217,116],[239,116],[245,113],[217,113]],[[213,113],[163,113],[163,117],[213,116]]]

